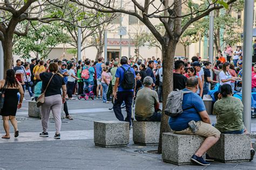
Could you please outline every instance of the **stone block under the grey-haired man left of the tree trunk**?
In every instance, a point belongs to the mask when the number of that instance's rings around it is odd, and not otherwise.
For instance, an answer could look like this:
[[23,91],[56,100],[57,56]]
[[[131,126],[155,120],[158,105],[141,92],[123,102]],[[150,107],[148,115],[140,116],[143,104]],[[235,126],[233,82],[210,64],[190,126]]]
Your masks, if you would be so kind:
[[133,142],[139,145],[158,145],[160,122],[133,121]]

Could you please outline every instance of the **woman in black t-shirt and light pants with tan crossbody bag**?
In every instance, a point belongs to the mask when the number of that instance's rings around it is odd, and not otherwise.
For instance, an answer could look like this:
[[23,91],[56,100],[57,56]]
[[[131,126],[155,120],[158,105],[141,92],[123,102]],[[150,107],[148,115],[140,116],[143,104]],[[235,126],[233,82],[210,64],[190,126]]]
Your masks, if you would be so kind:
[[[60,118],[62,104],[65,102],[66,84],[63,75],[57,73],[58,65],[50,63],[49,73],[36,73],[36,79],[42,80],[42,95],[38,97],[38,102],[41,102],[42,126],[43,132],[39,134],[41,137],[48,137],[48,122],[50,111],[52,111],[55,119],[56,133],[54,138],[60,139],[60,128],[62,120]],[[61,92],[61,90],[63,93]],[[62,95],[61,95],[62,94]],[[43,100],[42,100],[43,99]]]

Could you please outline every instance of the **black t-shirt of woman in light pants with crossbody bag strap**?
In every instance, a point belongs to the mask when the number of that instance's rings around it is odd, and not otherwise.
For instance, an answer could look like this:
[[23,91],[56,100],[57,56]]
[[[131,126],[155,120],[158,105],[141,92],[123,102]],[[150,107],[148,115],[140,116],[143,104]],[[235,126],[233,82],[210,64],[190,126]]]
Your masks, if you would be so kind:
[[[42,80],[42,93],[43,93],[44,89],[46,88],[48,82],[51,79],[52,73],[41,73],[39,76],[40,76],[40,79]],[[52,80],[45,91],[45,97],[62,94],[62,92],[60,91],[60,88],[62,88],[62,85],[65,85],[65,81],[63,77],[60,77],[58,74],[55,74],[52,77]]]

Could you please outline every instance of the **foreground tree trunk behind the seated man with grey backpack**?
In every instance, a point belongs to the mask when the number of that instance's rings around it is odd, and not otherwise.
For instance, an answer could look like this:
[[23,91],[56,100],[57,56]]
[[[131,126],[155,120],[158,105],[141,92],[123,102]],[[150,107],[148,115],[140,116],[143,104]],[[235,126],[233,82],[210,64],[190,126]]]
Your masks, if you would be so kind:
[[171,132],[171,128],[168,123],[169,116],[166,116],[164,114],[164,108],[166,105],[167,96],[173,89],[173,62],[174,62],[175,49],[176,49],[177,44],[178,44],[178,41],[170,39],[167,46],[163,45],[163,47],[162,47],[162,54],[163,54],[163,111],[162,111],[162,116],[161,116],[158,153],[161,153],[161,150],[162,150],[161,134],[164,132]]

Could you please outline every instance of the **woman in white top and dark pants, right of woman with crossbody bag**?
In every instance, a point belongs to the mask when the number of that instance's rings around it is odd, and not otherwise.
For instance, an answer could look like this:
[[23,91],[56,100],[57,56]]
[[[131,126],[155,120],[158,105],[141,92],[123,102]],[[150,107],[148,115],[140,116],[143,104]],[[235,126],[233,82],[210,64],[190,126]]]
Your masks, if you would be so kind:
[[68,83],[66,83],[66,86],[68,89],[68,97],[69,97],[69,100],[75,100],[75,98],[72,97],[72,94],[73,94],[73,89],[75,87],[75,81],[79,80],[79,78],[76,76],[73,63],[70,63],[70,65],[68,66],[68,74],[69,74]]

